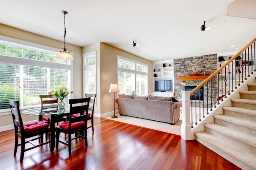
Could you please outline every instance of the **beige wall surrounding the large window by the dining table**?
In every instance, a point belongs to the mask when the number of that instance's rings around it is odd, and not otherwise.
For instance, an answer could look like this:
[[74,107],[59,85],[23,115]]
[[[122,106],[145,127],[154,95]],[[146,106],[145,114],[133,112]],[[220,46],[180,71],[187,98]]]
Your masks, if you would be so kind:
[[[0,24],[0,35],[11,37],[19,40],[24,40],[28,42],[33,42],[41,45],[46,45],[53,48],[63,48],[63,42],[58,40],[53,40],[48,37],[44,37],[38,34],[33,34],[27,31],[23,31],[17,28],[13,28],[10,26],[6,26],[3,24]],[[82,95],[82,48],[76,45],[70,45],[67,44],[67,48],[69,51],[73,52],[73,97],[74,98],[81,98]],[[24,116],[23,122],[28,122],[31,120],[37,119],[33,116]],[[7,125],[13,125],[11,115],[6,116],[0,116],[0,126],[7,126]]]

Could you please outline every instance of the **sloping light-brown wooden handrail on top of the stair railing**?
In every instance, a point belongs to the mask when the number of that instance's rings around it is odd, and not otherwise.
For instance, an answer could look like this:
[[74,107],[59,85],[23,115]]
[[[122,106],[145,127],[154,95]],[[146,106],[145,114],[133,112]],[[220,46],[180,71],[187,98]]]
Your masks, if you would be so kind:
[[196,91],[198,91],[203,85],[205,85],[207,82],[209,82],[213,77],[215,77],[220,71],[222,71],[227,65],[230,64],[230,62],[232,62],[234,59],[236,59],[236,57],[239,57],[239,55],[244,52],[248,47],[250,47],[250,45],[252,45],[254,42],[256,42],[256,38],[254,38],[251,42],[249,42],[244,48],[242,48],[238,53],[236,53],[236,55],[234,55],[231,59],[229,59],[224,65],[222,65],[220,68],[218,68],[213,74],[211,74],[209,77],[207,77],[207,79],[205,79],[203,82],[201,82],[200,85],[198,85],[196,88],[194,88],[191,92],[190,92],[190,96],[192,96],[192,94],[194,94]]

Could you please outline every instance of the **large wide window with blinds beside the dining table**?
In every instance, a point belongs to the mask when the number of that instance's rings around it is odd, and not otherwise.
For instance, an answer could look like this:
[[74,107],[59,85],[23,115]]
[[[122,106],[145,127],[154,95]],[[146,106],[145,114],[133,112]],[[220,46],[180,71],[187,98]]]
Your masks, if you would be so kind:
[[9,99],[19,100],[20,108],[40,107],[39,95],[71,87],[72,62],[56,54],[0,40],[0,111],[9,109]]

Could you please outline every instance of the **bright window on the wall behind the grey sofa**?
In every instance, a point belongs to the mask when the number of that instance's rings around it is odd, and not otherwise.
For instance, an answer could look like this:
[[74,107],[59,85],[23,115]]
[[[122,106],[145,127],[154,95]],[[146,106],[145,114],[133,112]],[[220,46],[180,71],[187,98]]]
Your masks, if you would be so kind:
[[148,94],[148,65],[137,61],[118,57],[118,87],[120,94]]

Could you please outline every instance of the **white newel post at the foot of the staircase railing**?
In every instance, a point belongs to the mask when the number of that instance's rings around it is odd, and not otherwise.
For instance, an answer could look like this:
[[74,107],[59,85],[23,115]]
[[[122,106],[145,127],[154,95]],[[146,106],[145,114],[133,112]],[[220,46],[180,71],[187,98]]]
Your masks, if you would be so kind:
[[182,93],[182,124],[181,137],[184,140],[192,140],[191,123],[190,123],[190,91],[181,91]]

